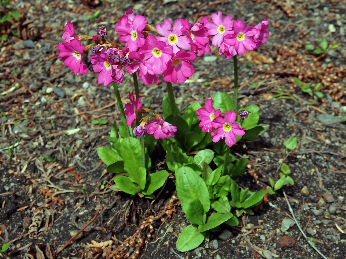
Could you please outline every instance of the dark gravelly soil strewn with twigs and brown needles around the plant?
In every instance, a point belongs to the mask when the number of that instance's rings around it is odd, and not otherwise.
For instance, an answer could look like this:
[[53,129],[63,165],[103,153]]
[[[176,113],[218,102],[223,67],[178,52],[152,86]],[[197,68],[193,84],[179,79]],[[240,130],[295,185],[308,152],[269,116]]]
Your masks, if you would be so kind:
[[[0,42],[0,244],[11,245],[5,258],[107,258],[112,251],[121,254],[114,258],[131,258],[136,246],[138,257],[155,259],[257,259],[262,251],[265,258],[321,258],[295,224],[281,230],[283,220],[292,218],[282,191],[269,196],[254,215],[240,217],[238,227],[212,232],[208,242],[181,253],[175,242],[189,223],[175,197],[174,174],[152,200],[108,188],[113,175],[106,173],[95,148],[108,145],[104,137],[120,118],[115,96],[110,85],[97,84],[94,73],[74,76],[57,58],[57,45],[69,20],[76,33],[94,35],[105,25],[109,39],[116,37],[113,26],[131,7],[152,25],[178,18],[193,23],[219,10],[248,25],[269,20],[268,41],[238,58],[240,106],[257,104],[260,123],[270,127],[233,149],[236,158],[249,159],[237,180],[260,190],[269,177],[278,177],[282,163],[288,164],[294,185],[284,191],[304,233],[325,257],[346,258],[346,127],[339,119],[346,116],[345,1],[10,2],[20,11],[18,36],[25,21],[39,35],[24,40],[11,33]],[[96,10],[101,11],[96,18],[86,18]],[[10,33],[19,25],[0,26]],[[320,39],[339,46],[319,55],[304,48],[317,48]],[[91,71],[90,60],[85,62]],[[194,65],[194,76],[174,86],[181,111],[193,101],[203,105],[217,90],[233,94],[231,60],[210,54]],[[322,83],[324,97],[311,102],[294,78]],[[134,90],[131,80],[125,75],[120,86],[124,102]],[[160,111],[165,84],[140,90],[145,106]],[[92,124],[95,119],[107,123]],[[292,136],[298,145],[285,150],[283,142]],[[155,166],[164,167],[164,154],[157,157]],[[82,236],[62,249],[90,221]]]

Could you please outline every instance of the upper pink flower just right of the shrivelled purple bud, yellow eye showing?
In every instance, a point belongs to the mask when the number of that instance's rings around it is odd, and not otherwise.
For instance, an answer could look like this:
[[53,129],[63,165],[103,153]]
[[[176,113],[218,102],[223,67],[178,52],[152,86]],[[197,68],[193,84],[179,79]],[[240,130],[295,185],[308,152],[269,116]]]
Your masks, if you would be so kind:
[[137,51],[144,45],[145,39],[142,33],[147,20],[142,15],[136,15],[132,20],[128,16],[122,16],[115,30],[119,35],[119,41],[126,42],[125,47],[129,51]]

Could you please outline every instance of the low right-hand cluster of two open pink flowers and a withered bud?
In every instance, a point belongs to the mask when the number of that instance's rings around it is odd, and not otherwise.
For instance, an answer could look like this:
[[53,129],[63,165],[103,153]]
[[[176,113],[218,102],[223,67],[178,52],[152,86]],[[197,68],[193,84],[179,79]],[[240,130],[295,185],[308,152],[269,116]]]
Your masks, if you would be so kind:
[[[241,119],[247,117],[250,113],[248,111],[241,111]],[[245,128],[240,127],[238,123],[234,123],[237,118],[237,114],[232,111],[227,111],[225,114],[221,114],[220,109],[215,111],[212,106],[212,99],[207,100],[205,109],[200,108],[196,111],[197,118],[201,121],[199,124],[202,127],[202,131],[210,132],[213,142],[218,142],[220,139],[225,138],[225,143],[228,146],[236,145],[236,136],[243,136],[245,134]],[[215,129],[215,131],[213,131]]]

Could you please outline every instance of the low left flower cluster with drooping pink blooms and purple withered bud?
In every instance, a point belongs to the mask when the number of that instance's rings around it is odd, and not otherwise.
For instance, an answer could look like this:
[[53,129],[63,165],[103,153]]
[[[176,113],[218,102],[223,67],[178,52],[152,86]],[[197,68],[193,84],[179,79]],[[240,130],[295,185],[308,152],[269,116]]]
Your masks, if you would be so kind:
[[[140,97],[135,100],[133,92],[129,93],[129,99],[131,104],[125,104],[125,115],[126,124],[129,127],[133,126],[133,122],[136,123],[137,112],[149,112],[150,110],[147,108],[142,108],[142,104],[140,103]],[[149,115],[151,116],[151,115]],[[133,130],[133,135],[138,136],[138,138],[142,137],[146,132],[148,134],[152,134],[156,140],[159,138],[167,138],[174,137],[174,132],[177,131],[177,127],[165,122],[164,119],[159,114],[154,114],[155,119],[151,122],[149,121],[149,116],[146,116],[141,119],[139,126],[136,126]]]

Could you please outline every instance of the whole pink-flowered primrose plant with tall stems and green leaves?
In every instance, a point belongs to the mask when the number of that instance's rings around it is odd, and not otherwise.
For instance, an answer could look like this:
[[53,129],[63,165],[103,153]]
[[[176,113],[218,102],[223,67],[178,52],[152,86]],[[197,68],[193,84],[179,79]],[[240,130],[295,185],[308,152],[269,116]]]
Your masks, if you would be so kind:
[[[258,106],[237,107],[237,56],[266,42],[267,28],[267,20],[246,26],[230,15],[222,18],[220,11],[192,26],[186,19],[175,20],[173,26],[165,19],[153,27],[144,16],[135,15],[131,9],[115,26],[118,43],[106,40],[108,32],[104,26],[96,29],[94,36],[76,35],[70,21],[65,26],[64,42],[58,46],[63,63],[75,75],[88,73],[82,57],[92,51],[90,59],[92,69],[98,73],[98,83],[104,86],[112,83],[117,98],[122,120],[111,127],[107,137],[110,148],[97,148],[107,171],[116,174],[115,184],[110,188],[153,198],[169,172],[154,172],[150,154],[157,142],[165,150],[167,169],[175,176],[177,196],[191,222],[177,239],[179,251],[196,248],[208,239],[209,231],[218,230],[220,224],[236,226],[237,217],[243,213],[253,214],[252,208],[261,204],[266,193],[273,194],[274,189],[293,183],[285,169],[276,184],[271,179],[272,188],[239,191],[235,178],[244,172],[248,159],[235,161],[230,152],[241,139],[253,140],[268,127],[258,124]],[[81,41],[92,43],[83,46]],[[211,52],[210,41],[218,47],[219,55],[233,58],[233,98],[218,91],[206,100],[204,107],[194,102],[180,113],[172,83],[182,84],[193,75],[193,61]],[[128,94],[130,103],[125,104],[125,111],[118,89],[124,72],[133,75],[135,89],[135,94]],[[143,107],[137,81],[138,77],[144,84],[151,85],[158,83],[160,76],[167,83],[168,93],[162,100],[162,115]]]

